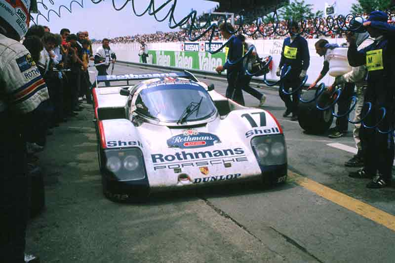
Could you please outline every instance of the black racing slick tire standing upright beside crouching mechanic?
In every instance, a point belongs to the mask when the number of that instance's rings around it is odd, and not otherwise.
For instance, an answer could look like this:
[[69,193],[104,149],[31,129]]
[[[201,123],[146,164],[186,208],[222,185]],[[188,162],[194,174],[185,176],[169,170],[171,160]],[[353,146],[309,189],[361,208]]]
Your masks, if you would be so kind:
[[[303,91],[301,98],[303,100],[312,100],[316,97],[316,90]],[[333,115],[332,107],[323,111],[316,107],[316,103],[323,108],[332,103],[330,93],[323,92],[311,102],[299,102],[298,121],[300,127],[308,133],[322,134],[327,132],[332,125]]]

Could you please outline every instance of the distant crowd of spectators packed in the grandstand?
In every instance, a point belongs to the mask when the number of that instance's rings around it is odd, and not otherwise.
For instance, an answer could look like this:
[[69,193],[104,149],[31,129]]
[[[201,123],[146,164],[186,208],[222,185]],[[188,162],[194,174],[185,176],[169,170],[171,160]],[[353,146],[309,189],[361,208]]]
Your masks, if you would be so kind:
[[[368,14],[362,14],[361,15],[364,19],[367,19]],[[389,14],[389,23],[394,23],[395,22],[395,13],[391,13]],[[199,24],[202,19],[206,18],[205,15],[202,15],[198,18],[197,24]],[[348,20],[350,20],[351,17],[349,17]],[[336,17],[335,17],[336,19]],[[326,36],[326,37],[331,37],[331,38],[335,38],[335,37],[344,37],[344,33],[342,33],[341,31],[339,31],[339,26],[337,25],[337,23],[334,23],[333,26],[331,26],[330,28],[328,27],[328,24],[326,22],[324,22],[323,19],[320,20],[321,23],[319,24],[319,30],[316,30],[316,25],[315,25],[315,21],[314,20],[307,20],[306,25],[305,25],[305,33],[303,34],[303,36],[305,38],[319,38],[322,35]],[[349,22],[349,21],[348,21]],[[346,22],[346,23],[348,23]],[[236,21],[237,24],[237,21]],[[316,24],[318,24],[318,21],[316,21]],[[330,22],[331,24],[331,22]],[[288,29],[287,29],[287,22],[286,21],[280,21],[277,29],[276,29],[276,33],[274,32],[274,28],[276,27],[276,24],[273,23],[258,23],[259,25],[259,32],[256,32],[257,30],[257,24],[256,22],[254,23],[244,23],[243,25],[243,29],[244,32],[246,32],[246,38],[248,39],[279,39],[279,38],[284,38],[286,35],[286,33],[288,33]],[[236,28],[237,25],[236,25]],[[191,34],[191,39],[201,35],[202,33],[204,33],[205,28],[204,29],[194,29],[192,31]],[[248,35],[250,34],[250,35]],[[208,32],[206,34],[204,34],[200,40],[205,41],[205,40],[209,40],[211,35],[211,32]],[[214,40],[222,40],[222,36],[220,33],[214,33],[213,36]],[[137,34],[134,36],[119,36],[119,37],[115,37],[110,39],[111,43],[133,43],[133,42],[137,42],[137,43],[141,43],[141,42],[145,42],[145,43],[155,43],[155,42],[184,42],[184,41],[190,41],[189,38],[189,30],[187,29],[182,29],[180,31],[177,32],[167,32],[167,33],[162,33],[162,32],[157,32],[157,33],[151,33],[151,34]],[[95,43],[101,43],[101,41],[95,41]]]

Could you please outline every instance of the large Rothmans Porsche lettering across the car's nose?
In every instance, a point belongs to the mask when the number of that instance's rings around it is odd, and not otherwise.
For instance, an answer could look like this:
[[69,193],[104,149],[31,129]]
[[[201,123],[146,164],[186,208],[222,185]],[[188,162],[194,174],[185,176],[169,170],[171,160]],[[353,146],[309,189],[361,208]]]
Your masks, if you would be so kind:
[[180,169],[183,167],[200,167],[209,165],[225,165],[229,163],[248,162],[243,148],[176,152],[174,154],[152,154],[154,170]]

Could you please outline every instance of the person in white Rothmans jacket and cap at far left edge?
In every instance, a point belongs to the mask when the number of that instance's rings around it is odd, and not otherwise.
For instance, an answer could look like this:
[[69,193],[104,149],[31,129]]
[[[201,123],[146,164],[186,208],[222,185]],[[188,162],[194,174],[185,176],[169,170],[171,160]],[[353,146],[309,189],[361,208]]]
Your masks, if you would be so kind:
[[0,262],[24,263],[29,177],[23,131],[34,124],[36,109],[48,99],[48,91],[29,51],[19,42],[29,28],[30,11],[37,9],[36,1],[0,0],[0,4],[0,123],[4,124],[0,129]]

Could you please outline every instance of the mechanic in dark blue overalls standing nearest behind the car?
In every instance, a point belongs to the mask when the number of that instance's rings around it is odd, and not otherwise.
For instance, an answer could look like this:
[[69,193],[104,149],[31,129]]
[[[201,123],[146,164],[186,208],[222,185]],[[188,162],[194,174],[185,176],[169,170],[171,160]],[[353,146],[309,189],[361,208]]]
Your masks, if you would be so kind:
[[[215,69],[218,73],[221,73],[226,69],[226,77],[228,80],[228,88],[226,89],[226,98],[233,99],[237,103],[244,105],[244,98],[241,92],[240,73],[242,68],[242,60],[240,58],[243,55],[242,40],[240,35],[233,35],[232,32],[235,31],[230,23],[222,23],[219,25],[222,37],[225,39],[231,38],[227,47],[225,48],[225,57],[227,59],[223,66],[217,66]],[[238,63],[231,65],[229,61]]]

